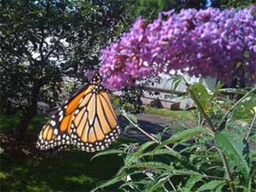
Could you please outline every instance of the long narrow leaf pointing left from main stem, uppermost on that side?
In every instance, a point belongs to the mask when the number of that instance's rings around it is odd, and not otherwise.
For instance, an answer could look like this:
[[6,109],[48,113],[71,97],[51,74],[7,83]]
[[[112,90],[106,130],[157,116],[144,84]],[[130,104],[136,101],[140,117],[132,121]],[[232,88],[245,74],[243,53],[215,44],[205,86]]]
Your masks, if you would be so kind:
[[165,146],[165,145],[169,145],[171,143],[177,142],[177,141],[181,141],[181,140],[187,140],[193,136],[197,136],[200,135],[204,132],[205,130],[201,129],[201,128],[194,128],[194,129],[187,129],[178,133],[175,133],[174,135],[172,135],[169,139],[166,139],[165,141],[163,141],[160,145],[158,145],[157,147],[155,147],[156,151],[157,149]]

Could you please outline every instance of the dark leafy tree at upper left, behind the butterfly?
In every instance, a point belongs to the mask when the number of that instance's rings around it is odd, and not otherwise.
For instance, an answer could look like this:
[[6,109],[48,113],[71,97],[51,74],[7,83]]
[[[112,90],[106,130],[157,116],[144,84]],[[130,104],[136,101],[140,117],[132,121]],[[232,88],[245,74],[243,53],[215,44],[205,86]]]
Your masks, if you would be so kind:
[[54,106],[63,77],[85,82],[121,17],[119,1],[1,1],[1,111],[22,112],[25,138],[38,101]]

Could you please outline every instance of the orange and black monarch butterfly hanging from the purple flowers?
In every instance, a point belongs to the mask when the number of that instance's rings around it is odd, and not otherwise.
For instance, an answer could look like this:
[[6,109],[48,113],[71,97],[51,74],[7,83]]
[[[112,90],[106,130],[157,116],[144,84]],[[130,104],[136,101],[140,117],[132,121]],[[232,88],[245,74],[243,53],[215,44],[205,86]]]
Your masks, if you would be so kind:
[[43,126],[37,148],[55,151],[75,145],[94,152],[113,143],[120,133],[117,115],[101,77],[94,75],[89,85],[83,86]]

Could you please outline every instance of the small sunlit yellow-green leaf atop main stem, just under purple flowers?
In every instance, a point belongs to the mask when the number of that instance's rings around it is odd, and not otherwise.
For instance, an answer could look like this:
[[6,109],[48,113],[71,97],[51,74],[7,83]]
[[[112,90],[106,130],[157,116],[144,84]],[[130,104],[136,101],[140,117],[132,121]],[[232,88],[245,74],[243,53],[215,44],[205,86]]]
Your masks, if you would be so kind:
[[198,98],[198,101],[201,103],[203,109],[205,109],[207,102],[210,102],[211,99],[211,95],[208,93],[205,86],[203,86],[201,83],[194,83],[191,86],[191,89]]

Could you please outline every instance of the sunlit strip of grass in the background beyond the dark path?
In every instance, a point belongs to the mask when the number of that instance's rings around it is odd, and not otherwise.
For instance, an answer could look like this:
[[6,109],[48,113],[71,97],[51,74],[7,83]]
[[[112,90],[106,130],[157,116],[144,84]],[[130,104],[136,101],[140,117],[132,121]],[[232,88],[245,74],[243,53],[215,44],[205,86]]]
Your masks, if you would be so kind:
[[168,109],[157,109],[153,107],[145,107],[146,114],[160,115],[163,117],[169,117],[177,120],[193,121],[195,117],[194,110],[178,110],[172,111]]

